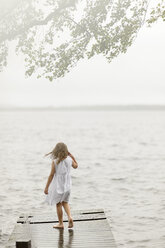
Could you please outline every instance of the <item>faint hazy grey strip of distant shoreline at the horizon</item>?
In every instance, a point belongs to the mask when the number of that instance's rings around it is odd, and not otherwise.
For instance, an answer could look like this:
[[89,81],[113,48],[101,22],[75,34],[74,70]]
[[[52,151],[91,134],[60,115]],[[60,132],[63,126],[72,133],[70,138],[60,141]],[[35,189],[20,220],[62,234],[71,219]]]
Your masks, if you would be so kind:
[[60,107],[0,107],[0,111],[118,111],[118,110],[165,110],[165,105],[80,105]]

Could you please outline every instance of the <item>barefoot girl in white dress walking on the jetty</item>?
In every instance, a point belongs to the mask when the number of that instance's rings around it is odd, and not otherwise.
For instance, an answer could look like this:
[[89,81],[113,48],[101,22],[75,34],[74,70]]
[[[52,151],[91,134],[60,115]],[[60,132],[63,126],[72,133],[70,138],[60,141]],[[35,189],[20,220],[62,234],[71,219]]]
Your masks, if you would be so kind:
[[45,202],[49,205],[56,204],[57,216],[59,224],[53,228],[64,228],[63,211],[64,208],[68,216],[68,228],[73,227],[73,219],[70,213],[69,197],[71,192],[71,166],[76,169],[78,164],[73,155],[68,152],[68,148],[64,143],[57,143],[51,154],[52,165],[51,172],[47,180],[44,193],[47,195]]

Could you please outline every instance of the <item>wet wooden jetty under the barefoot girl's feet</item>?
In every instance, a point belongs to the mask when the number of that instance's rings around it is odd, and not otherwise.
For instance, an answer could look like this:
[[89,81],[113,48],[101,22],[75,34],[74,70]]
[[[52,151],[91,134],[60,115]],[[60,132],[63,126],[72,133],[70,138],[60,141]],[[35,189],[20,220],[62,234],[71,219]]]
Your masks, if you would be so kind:
[[72,211],[72,217],[72,229],[65,215],[64,229],[55,229],[55,211],[21,215],[6,248],[116,248],[103,209]]

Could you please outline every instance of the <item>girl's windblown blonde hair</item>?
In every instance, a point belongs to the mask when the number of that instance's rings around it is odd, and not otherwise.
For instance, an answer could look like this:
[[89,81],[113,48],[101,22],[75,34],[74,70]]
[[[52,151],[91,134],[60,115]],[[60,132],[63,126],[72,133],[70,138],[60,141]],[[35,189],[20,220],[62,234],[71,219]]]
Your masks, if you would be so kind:
[[51,152],[45,154],[45,156],[48,155],[51,155],[52,159],[58,159],[57,164],[59,164],[68,156],[68,148],[63,142],[59,142]]

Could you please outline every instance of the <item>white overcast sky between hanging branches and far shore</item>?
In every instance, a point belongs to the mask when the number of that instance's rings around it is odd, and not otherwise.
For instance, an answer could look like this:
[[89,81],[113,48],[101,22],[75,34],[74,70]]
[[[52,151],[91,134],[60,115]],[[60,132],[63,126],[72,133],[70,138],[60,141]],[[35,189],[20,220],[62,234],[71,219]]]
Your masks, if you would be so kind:
[[165,104],[165,23],[141,29],[132,47],[108,63],[80,62],[65,78],[25,79],[23,58],[10,54],[0,73],[0,106]]

